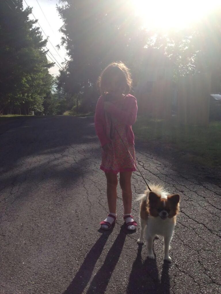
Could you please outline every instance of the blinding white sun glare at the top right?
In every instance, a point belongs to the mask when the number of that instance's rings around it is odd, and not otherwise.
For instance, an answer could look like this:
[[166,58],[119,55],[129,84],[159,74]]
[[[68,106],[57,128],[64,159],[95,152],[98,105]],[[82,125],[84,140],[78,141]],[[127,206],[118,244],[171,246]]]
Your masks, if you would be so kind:
[[153,30],[180,30],[189,27],[214,9],[220,0],[132,0],[135,13],[143,26]]

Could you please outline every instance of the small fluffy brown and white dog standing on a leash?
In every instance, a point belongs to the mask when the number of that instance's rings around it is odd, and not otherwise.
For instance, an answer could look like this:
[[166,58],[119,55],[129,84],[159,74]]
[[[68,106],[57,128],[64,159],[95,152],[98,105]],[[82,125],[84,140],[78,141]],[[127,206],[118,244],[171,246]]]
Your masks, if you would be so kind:
[[157,235],[164,237],[164,260],[171,262],[169,244],[176,225],[176,216],[179,213],[179,194],[169,195],[159,185],[150,186],[152,192],[147,190],[137,200],[142,200],[140,205],[141,234],[138,244],[147,245],[148,258],[154,259],[153,242]]

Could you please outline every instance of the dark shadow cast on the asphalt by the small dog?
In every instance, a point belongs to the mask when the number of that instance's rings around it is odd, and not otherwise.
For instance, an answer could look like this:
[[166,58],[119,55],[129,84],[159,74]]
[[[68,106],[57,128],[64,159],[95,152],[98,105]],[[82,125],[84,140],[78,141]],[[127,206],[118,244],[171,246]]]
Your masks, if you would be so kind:
[[159,272],[156,265],[156,259],[146,258],[142,262],[141,258],[142,245],[139,245],[136,260],[133,263],[127,294],[169,294],[169,267],[170,263],[164,261],[161,272],[161,280],[159,280]]

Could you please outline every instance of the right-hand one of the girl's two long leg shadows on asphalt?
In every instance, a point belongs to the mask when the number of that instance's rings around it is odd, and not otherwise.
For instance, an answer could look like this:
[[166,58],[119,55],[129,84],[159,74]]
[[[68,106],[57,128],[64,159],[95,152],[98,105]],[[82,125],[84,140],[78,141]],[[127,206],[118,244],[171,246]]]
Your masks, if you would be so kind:
[[121,230],[114,241],[112,247],[110,248],[103,265],[98,270],[93,280],[90,283],[87,294],[96,293],[103,294],[107,288],[110,277],[118,263],[121,251],[123,249],[123,244],[126,238],[126,232],[124,225],[121,226]]

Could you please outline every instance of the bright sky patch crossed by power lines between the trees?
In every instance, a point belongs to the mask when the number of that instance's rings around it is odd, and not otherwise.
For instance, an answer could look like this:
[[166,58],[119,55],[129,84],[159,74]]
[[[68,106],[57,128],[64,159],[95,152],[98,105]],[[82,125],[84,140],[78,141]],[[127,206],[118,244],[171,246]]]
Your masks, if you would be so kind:
[[[57,49],[56,45],[60,44],[62,34],[59,32],[60,27],[62,26],[63,22],[60,19],[60,16],[58,15],[57,9],[56,9],[56,3],[59,4],[58,0],[25,0],[28,4],[28,6],[33,7],[32,13],[38,19],[38,22],[40,26],[42,27],[43,31],[47,36],[49,36],[50,42],[47,42],[47,48],[50,50],[52,55],[57,60],[56,63],[59,63],[62,66],[62,61],[65,60],[65,54],[66,50],[64,47],[61,47],[61,49]],[[23,6],[24,9],[27,7],[27,4],[23,0]],[[41,6],[42,13],[38,3]],[[45,19],[44,15],[46,16],[47,20]],[[34,16],[32,14],[29,15],[30,19],[34,19]],[[48,21],[48,22],[47,22]],[[39,26],[38,24],[36,24]],[[42,32],[42,35],[44,38],[46,38],[45,34]],[[56,50],[53,48],[53,46]],[[48,55],[53,59],[51,54],[48,52]],[[59,56],[60,55],[60,56]],[[67,56],[66,56],[67,58]],[[52,60],[47,56],[47,59],[52,62]],[[53,59],[54,60],[54,59]],[[52,68],[49,69],[50,74],[53,76],[57,76],[59,74],[59,68],[57,65],[54,65]]]

